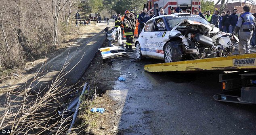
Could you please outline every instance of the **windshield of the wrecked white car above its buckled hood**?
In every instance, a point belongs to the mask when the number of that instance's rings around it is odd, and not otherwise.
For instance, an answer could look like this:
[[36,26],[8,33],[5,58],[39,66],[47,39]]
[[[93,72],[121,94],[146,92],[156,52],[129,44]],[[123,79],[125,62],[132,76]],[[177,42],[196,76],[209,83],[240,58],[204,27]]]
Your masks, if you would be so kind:
[[[203,23],[203,24],[206,24],[208,25],[208,21],[206,21],[205,19],[201,18],[201,17],[197,17],[197,16],[181,16],[181,17],[178,17],[178,16],[169,16],[169,17],[166,17],[166,20],[168,21],[168,24],[170,26],[171,29],[173,29],[176,25],[178,25],[181,21],[183,20],[191,20],[191,21],[197,21],[197,22],[200,22],[200,23]],[[184,26],[179,26],[180,28],[183,28]],[[179,27],[177,27],[177,29],[179,29]]]

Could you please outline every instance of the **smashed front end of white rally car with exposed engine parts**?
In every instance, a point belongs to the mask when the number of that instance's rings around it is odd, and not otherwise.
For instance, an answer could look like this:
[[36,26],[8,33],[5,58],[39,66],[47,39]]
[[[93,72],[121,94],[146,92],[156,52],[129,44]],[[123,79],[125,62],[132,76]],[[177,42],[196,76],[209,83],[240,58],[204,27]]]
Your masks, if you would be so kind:
[[[179,36],[183,43],[183,54],[190,59],[201,59],[232,54],[234,46],[231,39],[238,40],[230,33],[221,32],[212,24],[203,24],[191,20],[183,20],[176,25],[172,33]],[[174,36],[170,36],[172,40]]]

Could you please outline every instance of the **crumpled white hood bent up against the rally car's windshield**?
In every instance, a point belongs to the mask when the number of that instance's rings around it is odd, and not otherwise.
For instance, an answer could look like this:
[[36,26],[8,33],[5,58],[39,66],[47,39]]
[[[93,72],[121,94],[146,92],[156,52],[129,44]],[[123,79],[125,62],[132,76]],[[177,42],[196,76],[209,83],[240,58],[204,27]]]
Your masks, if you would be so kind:
[[179,26],[186,26],[186,27],[187,26],[192,26],[194,28],[198,28],[199,27],[199,28],[203,29],[204,31],[206,31],[206,30],[212,31],[212,29],[214,28],[214,25],[213,25],[213,27],[211,27],[210,25],[206,25],[204,23],[200,23],[200,22],[197,22],[197,21],[191,21],[191,20],[185,19],[182,22],[180,22],[178,25],[176,25],[172,29],[172,31],[176,30],[177,27],[179,27]]

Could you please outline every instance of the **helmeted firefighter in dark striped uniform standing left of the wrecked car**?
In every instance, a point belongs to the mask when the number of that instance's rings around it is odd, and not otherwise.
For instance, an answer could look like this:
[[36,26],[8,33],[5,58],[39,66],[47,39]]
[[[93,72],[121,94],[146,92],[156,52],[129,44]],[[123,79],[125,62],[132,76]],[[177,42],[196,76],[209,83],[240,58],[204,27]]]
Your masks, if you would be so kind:
[[132,39],[131,36],[133,36],[133,27],[132,27],[132,21],[130,19],[130,11],[126,10],[124,12],[124,35],[126,36],[126,45],[125,45],[125,51],[126,52],[133,52],[132,50]]

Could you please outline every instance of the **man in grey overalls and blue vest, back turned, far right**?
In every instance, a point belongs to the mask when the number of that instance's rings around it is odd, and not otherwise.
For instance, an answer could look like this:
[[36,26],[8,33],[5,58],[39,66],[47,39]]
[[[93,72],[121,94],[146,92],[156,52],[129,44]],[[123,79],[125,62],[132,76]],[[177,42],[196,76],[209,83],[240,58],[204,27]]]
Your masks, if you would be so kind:
[[250,53],[250,40],[255,28],[255,17],[250,13],[252,6],[245,5],[243,6],[243,10],[244,13],[238,18],[237,25],[233,31],[233,34],[237,34],[239,31],[238,50],[240,54]]

